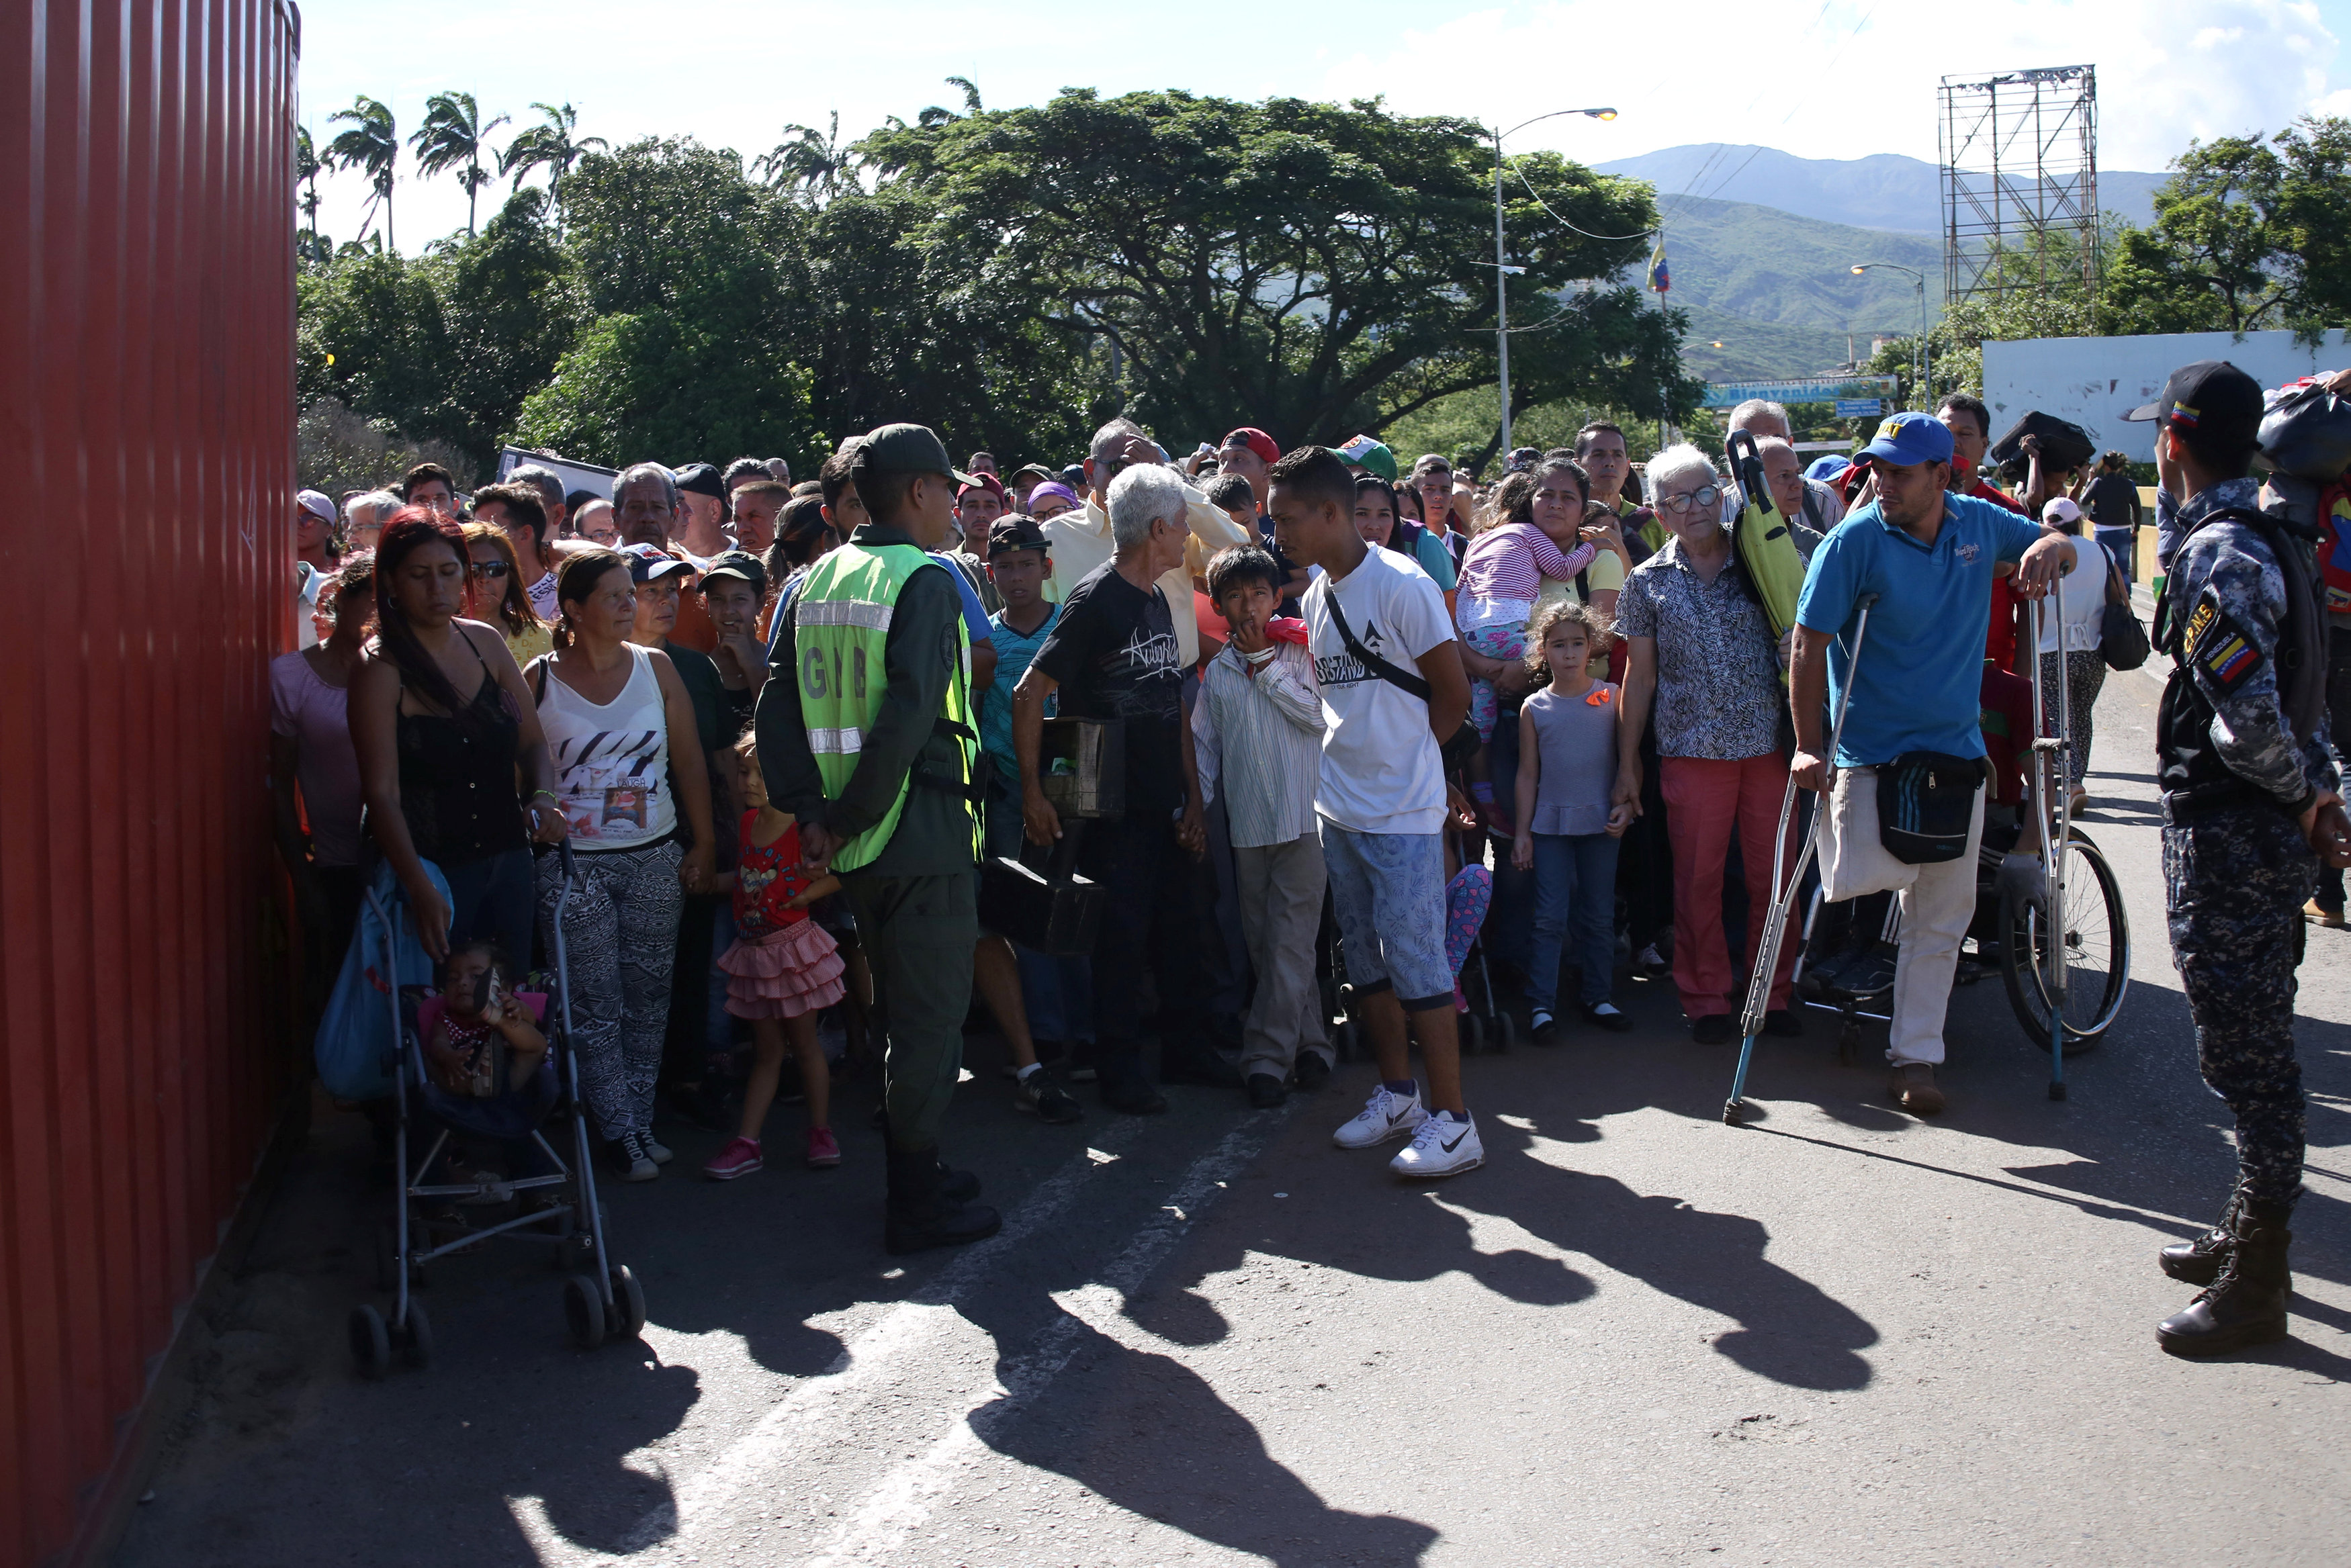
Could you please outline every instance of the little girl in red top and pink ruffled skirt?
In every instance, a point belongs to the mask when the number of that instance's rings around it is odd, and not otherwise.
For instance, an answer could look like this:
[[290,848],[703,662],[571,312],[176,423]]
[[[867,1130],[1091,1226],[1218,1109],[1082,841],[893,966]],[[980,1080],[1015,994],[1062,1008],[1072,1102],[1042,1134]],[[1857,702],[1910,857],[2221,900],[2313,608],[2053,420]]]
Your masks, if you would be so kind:
[[764,1164],[759,1126],[776,1100],[785,1034],[809,1095],[809,1164],[842,1164],[842,1145],[832,1138],[828,1117],[832,1079],[816,1039],[816,1016],[846,994],[842,954],[825,929],[809,919],[809,905],[842,882],[811,882],[799,867],[799,823],[769,804],[752,738],[743,736],[731,757],[736,799],[750,806],[743,813],[743,856],[736,870],[712,877],[710,886],[734,891],[736,943],[719,954],[719,969],[726,971],[726,1011],[750,1018],[759,1058],[743,1086],[743,1131],[703,1166],[705,1175],[722,1182]]

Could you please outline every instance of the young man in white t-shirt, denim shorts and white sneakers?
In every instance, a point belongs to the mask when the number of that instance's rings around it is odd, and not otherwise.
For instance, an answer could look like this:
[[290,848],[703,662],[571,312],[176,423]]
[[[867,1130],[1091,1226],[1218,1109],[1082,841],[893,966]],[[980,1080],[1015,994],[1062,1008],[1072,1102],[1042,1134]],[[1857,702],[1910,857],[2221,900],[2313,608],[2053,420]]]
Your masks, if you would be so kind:
[[[1458,1175],[1486,1164],[1486,1147],[1462,1103],[1453,1027],[1436,738],[1467,717],[1469,675],[1429,574],[1357,531],[1354,475],[1338,454],[1300,447],[1270,477],[1274,538],[1291,559],[1319,569],[1302,599],[1326,722],[1314,816],[1347,983],[1380,1058],[1380,1088],[1333,1140],[1368,1150],[1411,1135],[1392,1171]],[[1406,1016],[1429,1067],[1425,1098],[1406,1053]]]

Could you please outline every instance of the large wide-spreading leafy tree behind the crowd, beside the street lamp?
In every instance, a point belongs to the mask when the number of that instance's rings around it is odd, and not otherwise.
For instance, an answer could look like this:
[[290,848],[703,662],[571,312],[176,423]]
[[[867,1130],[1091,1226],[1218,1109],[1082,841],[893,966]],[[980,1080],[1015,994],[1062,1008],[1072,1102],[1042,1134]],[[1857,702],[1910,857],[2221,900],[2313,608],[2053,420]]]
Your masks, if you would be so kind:
[[[933,233],[985,240],[973,289],[1114,348],[1131,407],[1178,437],[1251,421],[1345,440],[1495,376],[1491,153],[1469,120],[1183,92],[886,127],[858,153]],[[1514,397],[1686,411],[1676,322],[1617,282],[1646,186],[1521,160]],[[1615,235],[1596,240],[1592,235]]]

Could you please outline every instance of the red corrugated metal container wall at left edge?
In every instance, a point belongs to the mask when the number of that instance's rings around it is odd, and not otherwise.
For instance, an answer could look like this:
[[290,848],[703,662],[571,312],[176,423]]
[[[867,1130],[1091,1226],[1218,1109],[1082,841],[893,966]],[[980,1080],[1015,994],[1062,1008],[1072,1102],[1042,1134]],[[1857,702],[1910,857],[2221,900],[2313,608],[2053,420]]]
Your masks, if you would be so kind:
[[0,0],[0,1561],[66,1549],[287,1086],[284,0]]

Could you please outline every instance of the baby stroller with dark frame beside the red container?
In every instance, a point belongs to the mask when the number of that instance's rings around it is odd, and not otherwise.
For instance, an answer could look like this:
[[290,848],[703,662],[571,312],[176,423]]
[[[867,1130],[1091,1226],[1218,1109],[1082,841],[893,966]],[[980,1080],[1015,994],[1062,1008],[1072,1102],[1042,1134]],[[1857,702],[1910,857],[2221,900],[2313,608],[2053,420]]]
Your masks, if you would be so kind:
[[[416,1286],[426,1265],[456,1251],[470,1251],[489,1239],[536,1241],[550,1246],[564,1272],[564,1321],[581,1349],[595,1349],[607,1338],[632,1340],[644,1328],[644,1288],[628,1265],[609,1262],[604,1244],[604,1206],[595,1192],[595,1159],[588,1150],[588,1110],[581,1100],[578,1063],[571,1053],[571,985],[564,959],[562,903],[576,882],[571,846],[560,844],[564,884],[555,919],[555,1006],[543,992],[517,990],[531,1004],[548,1037],[548,1060],[534,1088],[487,1100],[449,1093],[426,1072],[423,1039],[437,997],[428,987],[393,985],[393,1166],[400,1197],[393,1222],[376,1234],[376,1286],[393,1293],[390,1316],[371,1302],[350,1309],[350,1356],[360,1373],[381,1378],[393,1366],[393,1352],[416,1368],[433,1361],[433,1324]],[[397,931],[400,900],[388,910],[369,891],[379,929]],[[393,952],[381,969],[397,976]],[[428,1006],[430,1004],[430,1006]],[[548,1016],[552,1011],[552,1018]],[[545,1128],[571,1121],[571,1159],[564,1161]],[[430,1133],[423,1159],[411,1161],[411,1131]],[[451,1180],[447,1166],[451,1138],[496,1138],[508,1147],[527,1147],[545,1173],[513,1180]],[[557,1133],[560,1135],[560,1133]],[[440,1168],[440,1180],[435,1180]]]

